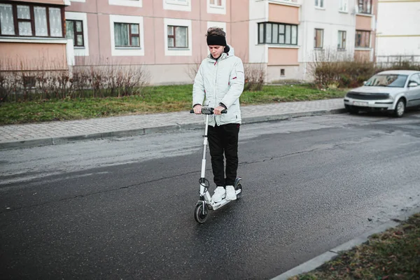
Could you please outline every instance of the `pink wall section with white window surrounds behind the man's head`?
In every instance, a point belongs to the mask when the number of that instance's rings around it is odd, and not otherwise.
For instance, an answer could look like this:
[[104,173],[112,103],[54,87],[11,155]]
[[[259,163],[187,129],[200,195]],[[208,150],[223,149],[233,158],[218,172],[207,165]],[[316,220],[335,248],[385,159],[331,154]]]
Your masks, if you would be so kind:
[[[248,7],[239,5],[240,0],[223,0],[224,9],[214,9],[208,0],[191,1],[185,10],[167,9],[165,0],[143,0],[140,6],[118,6],[111,4],[113,0],[92,0],[71,2],[67,12],[87,13],[87,38],[89,39],[88,55],[78,55],[76,49],[76,65],[97,64],[145,64],[151,71],[166,73],[174,69],[171,78],[180,83],[190,83],[188,65],[200,63],[208,55],[205,34],[210,26],[223,27],[228,43],[234,45],[236,53],[244,53],[248,36],[241,31],[247,27],[242,22],[243,13]],[[235,2],[235,3],[232,3]],[[235,21],[231,23],[231,6],[235,4]],[[178,8],[182,6],[172,6]],[[211,12],[211,13],[209,13]],[[141,50],[116,50],[113,42],[113,22],[130,22],[140,24]],[[121,20],[120,20],[121,19]],[[188,50],[168,50],[166,25],[188,25]],[[232,33],[232,29],[235,30]],[[127,55],[125,55],[127,53]],[[176,65],[176,66],[174,66]],[[151,67],[153,66],[153,67]],[[165,69],[167,67],[167,69]],[[156,70],[156,69],[162,69]],[[159,75],[158,75],[159,76]],[[152,83],[160,83],[162,77],[152,75]],[[170,79],[168,78],[168,81]]]

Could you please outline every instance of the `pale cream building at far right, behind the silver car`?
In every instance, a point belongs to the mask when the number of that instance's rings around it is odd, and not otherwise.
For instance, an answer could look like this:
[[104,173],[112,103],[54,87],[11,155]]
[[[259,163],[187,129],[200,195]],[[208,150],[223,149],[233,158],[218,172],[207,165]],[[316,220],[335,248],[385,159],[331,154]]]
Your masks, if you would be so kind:
[[420,0],[379,0],[377,62],[420,63]]

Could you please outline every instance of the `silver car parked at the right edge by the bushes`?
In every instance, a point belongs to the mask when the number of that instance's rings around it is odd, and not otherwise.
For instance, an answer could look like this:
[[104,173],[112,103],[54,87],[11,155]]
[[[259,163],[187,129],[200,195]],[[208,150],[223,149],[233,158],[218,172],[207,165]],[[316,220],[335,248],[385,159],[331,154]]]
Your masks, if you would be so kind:
[[391,111],[400,118],[408,107],[420,106],[420,71],[383,71],[347,92],[344,106],[349,113]]

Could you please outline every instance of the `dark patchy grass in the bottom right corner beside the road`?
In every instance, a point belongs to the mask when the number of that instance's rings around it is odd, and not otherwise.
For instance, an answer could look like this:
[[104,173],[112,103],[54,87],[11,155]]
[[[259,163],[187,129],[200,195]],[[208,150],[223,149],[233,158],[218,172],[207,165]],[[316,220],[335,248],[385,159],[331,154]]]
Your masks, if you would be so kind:
[[319,269],[289,280],[420,279],[420,214],[396,228],[370,237]]

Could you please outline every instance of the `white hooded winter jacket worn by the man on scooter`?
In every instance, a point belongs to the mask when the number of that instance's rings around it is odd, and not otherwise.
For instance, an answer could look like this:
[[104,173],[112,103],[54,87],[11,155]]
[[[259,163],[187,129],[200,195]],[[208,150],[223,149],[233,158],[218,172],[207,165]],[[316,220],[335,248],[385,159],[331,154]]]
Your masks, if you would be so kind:
[[[230,46],[229,46],[230,47]],[[211,115],[209,125],[226,125],[241,123],[239,97],[244,90],[244,64],[235,57],[232,47],[228,53],[223,52],[217,60],[209,55],[200,64],[193,86],[193,106],[216,108],[225,104],[228,113]]]

